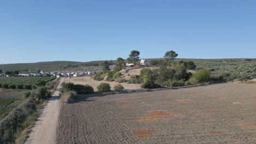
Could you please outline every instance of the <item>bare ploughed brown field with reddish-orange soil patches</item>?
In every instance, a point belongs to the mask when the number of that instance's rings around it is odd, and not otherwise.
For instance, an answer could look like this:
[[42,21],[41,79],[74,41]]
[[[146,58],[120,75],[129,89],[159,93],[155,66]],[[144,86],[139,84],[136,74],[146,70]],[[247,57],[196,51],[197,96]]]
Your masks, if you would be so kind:
[[256,85],[88,97],[61,107],[57,143],[256,143]]

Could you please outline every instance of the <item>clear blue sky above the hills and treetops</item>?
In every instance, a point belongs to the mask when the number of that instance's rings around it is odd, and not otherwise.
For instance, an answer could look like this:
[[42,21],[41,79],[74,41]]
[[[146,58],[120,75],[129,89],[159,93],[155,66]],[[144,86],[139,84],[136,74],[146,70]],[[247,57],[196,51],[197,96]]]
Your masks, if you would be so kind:
[[0,64],[256,58],[256,1],[0,0]]

